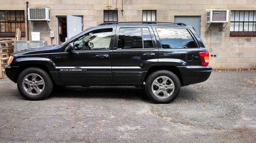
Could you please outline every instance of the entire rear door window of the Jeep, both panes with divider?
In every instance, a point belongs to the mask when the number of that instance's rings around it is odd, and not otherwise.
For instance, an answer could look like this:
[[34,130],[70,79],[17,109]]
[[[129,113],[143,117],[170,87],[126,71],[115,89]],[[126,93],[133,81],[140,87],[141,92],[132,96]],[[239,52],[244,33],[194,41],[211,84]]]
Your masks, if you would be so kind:
[[150,35],[150,30],[148,28],[120,28],[119,36],[118,36],[118,48],[119,49],[153,48],[153,42]]

